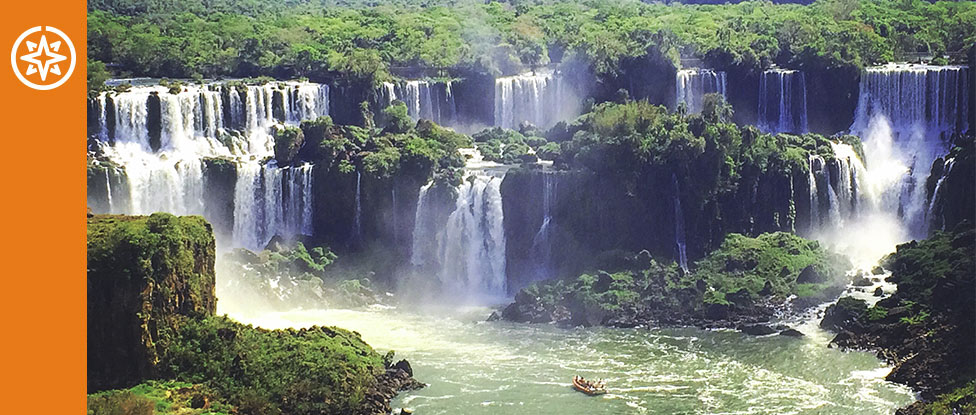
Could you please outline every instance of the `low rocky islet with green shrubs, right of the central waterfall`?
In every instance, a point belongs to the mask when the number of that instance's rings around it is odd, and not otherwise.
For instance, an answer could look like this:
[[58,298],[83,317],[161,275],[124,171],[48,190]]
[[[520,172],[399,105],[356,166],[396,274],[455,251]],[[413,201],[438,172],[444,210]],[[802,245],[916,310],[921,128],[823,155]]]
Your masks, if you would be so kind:
[[[526,301],[545,310],[564,307],[573,313],[573,324],[586,320],[605,324],[621,315],[652,316],[655,323],[723,320],[730,314],[753,313],[760,301],[779,304],[804,290],[807,296],[826,301],[829,295],[839,294],[844,270],[850,265],[817,242],[785,232],[757,238],[730,234],[720,249],[688,273],[677,264],[661,264],[646,252],[624,264],[615,272],[533,284],[509,308]],[[507,317],[521,320],[514,313]]]

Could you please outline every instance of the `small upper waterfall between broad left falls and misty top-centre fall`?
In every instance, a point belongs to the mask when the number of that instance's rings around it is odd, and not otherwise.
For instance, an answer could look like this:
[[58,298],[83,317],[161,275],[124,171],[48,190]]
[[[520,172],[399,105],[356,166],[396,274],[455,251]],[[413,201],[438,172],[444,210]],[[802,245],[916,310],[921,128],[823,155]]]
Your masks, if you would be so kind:
[[457,106],[454,103],[451,81],[384,82],[377,92],[381,106],[389,106],[399,99],[407,104],[407,114],[414,120],[422,118],[440,125],[454,125],[456,122]]

